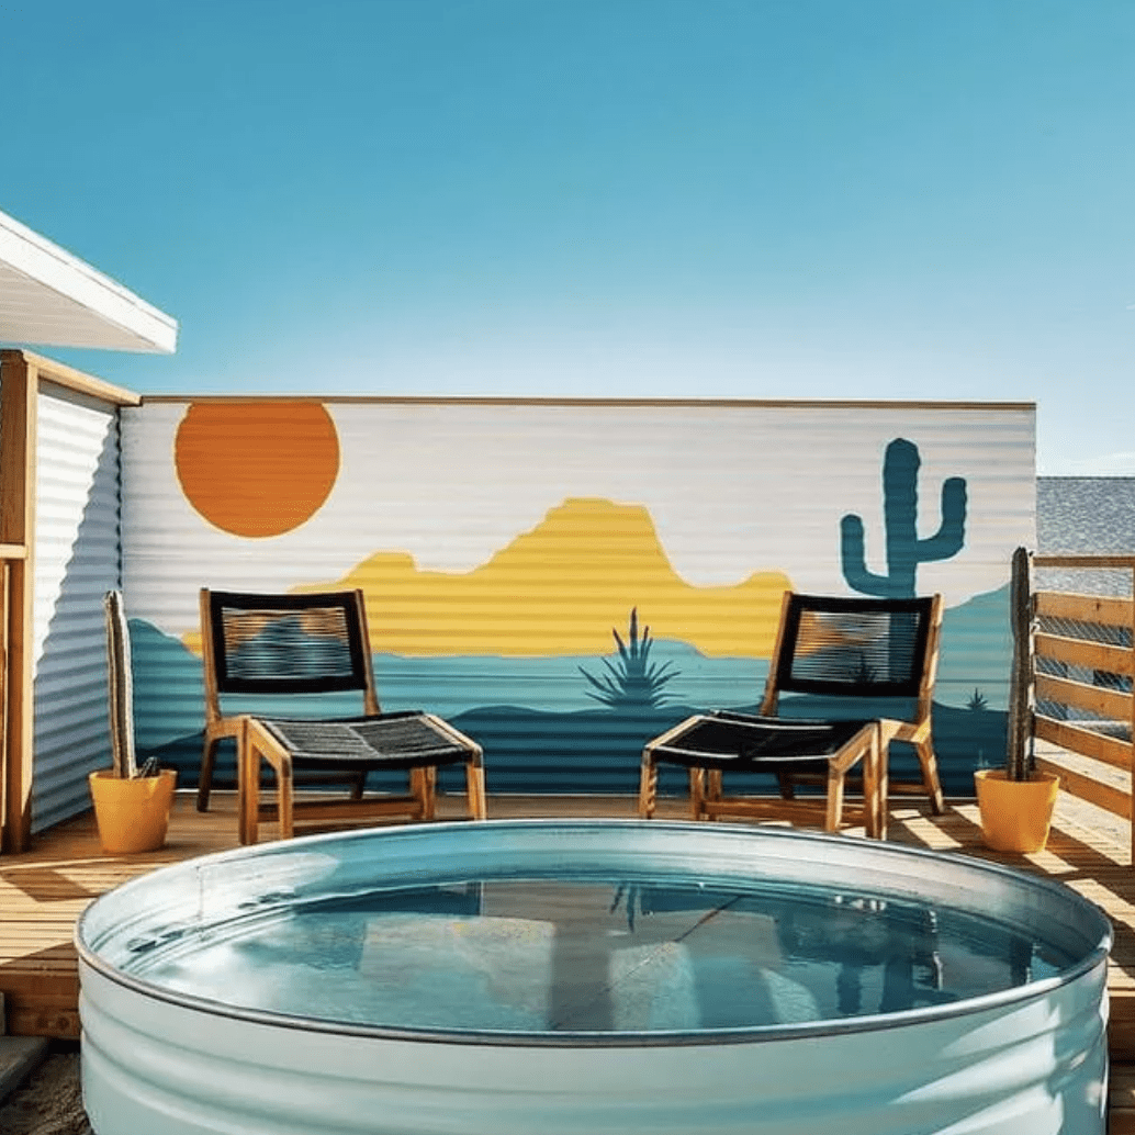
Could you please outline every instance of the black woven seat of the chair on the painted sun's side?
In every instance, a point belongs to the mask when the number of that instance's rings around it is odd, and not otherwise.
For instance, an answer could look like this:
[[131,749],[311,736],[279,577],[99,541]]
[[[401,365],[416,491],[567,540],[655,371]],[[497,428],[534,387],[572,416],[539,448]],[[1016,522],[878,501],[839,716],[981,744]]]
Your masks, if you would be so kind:
[[469,759],[466,748],[418,712],[330,721],[293,717],[258,717],[258,721],[288,747],[296,768],[413,768],[426,763],[448,765]]

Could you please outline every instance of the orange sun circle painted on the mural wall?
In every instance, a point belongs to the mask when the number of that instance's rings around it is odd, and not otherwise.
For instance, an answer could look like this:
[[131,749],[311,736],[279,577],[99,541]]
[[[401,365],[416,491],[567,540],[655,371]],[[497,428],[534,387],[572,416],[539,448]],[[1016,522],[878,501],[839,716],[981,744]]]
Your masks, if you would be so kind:
[[280,536],[327,499],[339,439],[319,402],[195,402],[177,428],[174,464],[186,499],[210,524]]

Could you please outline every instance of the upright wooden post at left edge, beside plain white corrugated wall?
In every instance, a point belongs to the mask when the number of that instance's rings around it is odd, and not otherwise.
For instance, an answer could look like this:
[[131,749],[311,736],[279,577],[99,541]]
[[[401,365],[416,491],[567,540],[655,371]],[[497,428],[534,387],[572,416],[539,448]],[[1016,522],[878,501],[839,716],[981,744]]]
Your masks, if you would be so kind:
[[35,530],[35,431],[39,372],[23,351],[0,352],[0,543],[25,549],[8,570],[3,686],[3,851],[25,851],[32,838],[32,555]]

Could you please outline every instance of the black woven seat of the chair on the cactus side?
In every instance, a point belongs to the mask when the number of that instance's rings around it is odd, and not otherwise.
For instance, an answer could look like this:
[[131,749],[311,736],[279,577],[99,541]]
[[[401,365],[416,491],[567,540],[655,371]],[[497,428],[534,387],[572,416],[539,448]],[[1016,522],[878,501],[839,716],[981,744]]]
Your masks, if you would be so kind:
[[825,764],[869,724],[871,720],[813,721],[720,712],[695,718],[655,753],[688,768],[759,771],[762,765],[774,765],[770,772],[785,772],[797,765]]

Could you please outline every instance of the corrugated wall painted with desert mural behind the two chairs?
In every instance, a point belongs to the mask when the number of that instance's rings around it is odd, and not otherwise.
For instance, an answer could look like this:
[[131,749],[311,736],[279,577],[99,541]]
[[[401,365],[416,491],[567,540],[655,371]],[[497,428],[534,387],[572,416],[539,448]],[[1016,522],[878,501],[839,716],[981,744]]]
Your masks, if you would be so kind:
[[361,587],[384,707],[431,709],[481,741],[490,792],[634,791],[646,739],[759,701],[785,588],[940,591],[936,746],[948,790],[969,793],[973,768],[1003,755],[1034,418],[1025,404],[148,400],[121,420],[140,748],[192,782],[202,586]]

